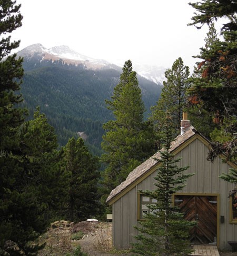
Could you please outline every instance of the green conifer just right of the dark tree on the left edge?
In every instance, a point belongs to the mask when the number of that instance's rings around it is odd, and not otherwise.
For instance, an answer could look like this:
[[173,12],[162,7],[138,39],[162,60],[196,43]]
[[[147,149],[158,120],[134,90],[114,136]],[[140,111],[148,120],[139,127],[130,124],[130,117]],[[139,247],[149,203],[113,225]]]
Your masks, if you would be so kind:
[[62,216],[65,208],[66,172],[60,163],[62,152],[58,152],[57,147],[54,128],[37,107],[34,119],[21,127],[20,149],[30,170],[31,186],[34,186],[35,196],[44,204],[44,218],[48,222]]

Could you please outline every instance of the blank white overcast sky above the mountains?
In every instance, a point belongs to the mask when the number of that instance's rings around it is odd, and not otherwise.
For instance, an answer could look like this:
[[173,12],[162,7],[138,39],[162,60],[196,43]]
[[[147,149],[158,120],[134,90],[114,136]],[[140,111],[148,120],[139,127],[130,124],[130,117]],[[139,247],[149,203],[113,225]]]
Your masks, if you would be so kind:
[[178,57],[193,68],[208,27],[187,26],[190,0],[17,0],[21,44],[67,45],[78,53],[123,64],[171,67]]

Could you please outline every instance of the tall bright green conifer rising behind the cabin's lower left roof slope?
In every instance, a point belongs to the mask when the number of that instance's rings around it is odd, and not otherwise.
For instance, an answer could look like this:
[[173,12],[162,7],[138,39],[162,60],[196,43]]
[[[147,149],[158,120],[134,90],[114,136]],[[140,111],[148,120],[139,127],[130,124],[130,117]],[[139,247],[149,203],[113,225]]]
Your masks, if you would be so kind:
[[126,61],[120,83],[114,88],[112,101],[106,101],[115,120],[103,125],[102,161],[104,196],[126,179],[126,176],[154,152],[153,127],[143,122],[144,104],[132,62]]

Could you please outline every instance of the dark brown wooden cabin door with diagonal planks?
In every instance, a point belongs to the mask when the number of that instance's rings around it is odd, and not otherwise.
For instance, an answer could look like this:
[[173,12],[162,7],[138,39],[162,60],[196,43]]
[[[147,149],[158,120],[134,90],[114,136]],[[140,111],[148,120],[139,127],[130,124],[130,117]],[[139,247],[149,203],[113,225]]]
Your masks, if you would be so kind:
[[175,195],[174,203],[179,206],[184,218],[197,221],[197,226],[190,231],[191,243],[216,242],[217,197],[203,195]]

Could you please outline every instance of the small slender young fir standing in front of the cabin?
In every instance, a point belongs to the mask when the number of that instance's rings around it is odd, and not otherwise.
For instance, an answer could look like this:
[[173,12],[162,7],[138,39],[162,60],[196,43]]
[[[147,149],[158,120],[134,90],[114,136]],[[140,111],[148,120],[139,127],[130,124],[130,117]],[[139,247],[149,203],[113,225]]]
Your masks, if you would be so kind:
[[160,152],[161,157],[156,159],[161,163],[157,169],[156,189],[153,191],[140,191],[145,196],[156,200],[156,203],[148,205],[151,213],[144,216],[140,222],[139,235],[135,238],[133,252],[145,256],[154,255],[187,255],[191,253],[189,245],[189,230],[195,225],[185,221],[182,213],[171,205],[171,196],[180,191],[186,180],[193,174],[183,174],[189,168],[177,166],[181,159],[174,160],[169,152],[173,128],[172,119],[166,119],[164,126],[165,143]]

